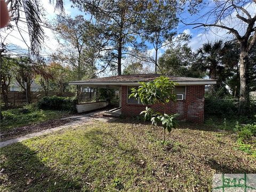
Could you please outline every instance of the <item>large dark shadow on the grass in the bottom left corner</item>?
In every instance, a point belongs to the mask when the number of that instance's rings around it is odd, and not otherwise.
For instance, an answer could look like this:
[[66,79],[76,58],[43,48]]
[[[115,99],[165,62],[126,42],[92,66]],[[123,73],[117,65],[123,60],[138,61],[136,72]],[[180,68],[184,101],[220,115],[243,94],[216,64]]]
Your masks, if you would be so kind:
[[1,190],[80,191],[81,186],[47,167],[34,150],[21,143],[1,148]]

